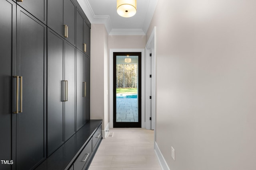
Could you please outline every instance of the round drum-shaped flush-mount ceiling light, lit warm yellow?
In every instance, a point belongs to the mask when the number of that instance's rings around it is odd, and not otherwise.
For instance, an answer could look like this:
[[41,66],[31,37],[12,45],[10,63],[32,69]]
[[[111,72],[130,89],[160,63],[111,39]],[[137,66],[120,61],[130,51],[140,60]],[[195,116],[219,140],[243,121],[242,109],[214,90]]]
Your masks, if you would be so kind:
[[132,17],[136,14],[136,0],[117,0],[117,13],[125,18]]

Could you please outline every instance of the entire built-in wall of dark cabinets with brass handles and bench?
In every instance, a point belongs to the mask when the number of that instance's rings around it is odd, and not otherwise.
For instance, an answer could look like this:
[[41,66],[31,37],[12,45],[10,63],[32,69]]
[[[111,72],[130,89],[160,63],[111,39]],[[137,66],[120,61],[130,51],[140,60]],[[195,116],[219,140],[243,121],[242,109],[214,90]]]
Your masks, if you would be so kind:
[[0,0],[0,23],[0,169],[78,169],[84,148],[88,166],[102,120],[90,120],[90,22],[78,2]]

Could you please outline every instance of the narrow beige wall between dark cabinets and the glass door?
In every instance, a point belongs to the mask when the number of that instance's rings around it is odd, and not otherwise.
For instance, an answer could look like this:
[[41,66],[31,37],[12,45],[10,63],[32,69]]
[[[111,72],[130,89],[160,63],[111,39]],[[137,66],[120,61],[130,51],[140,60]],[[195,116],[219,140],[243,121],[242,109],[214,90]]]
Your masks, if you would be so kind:
[[103,130],[108,114],[108,33],[104,24],[91,25],[90,118],[102,119]]

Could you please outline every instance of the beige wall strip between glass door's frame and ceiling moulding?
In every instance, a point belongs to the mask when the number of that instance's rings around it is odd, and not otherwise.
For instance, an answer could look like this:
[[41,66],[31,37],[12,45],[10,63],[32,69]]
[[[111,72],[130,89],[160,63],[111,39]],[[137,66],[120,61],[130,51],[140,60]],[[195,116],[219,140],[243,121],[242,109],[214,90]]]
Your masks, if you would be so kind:
[[109,49],[144,49],[145,35],[109,35]]

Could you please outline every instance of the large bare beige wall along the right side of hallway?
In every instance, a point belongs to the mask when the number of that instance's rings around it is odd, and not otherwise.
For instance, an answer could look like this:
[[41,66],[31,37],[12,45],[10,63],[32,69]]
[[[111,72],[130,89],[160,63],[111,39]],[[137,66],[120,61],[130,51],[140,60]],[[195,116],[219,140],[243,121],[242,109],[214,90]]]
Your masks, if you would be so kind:
[[147,39],[156,26],[156,143],[171,170],[256,169],[255,6],[158,0]]

